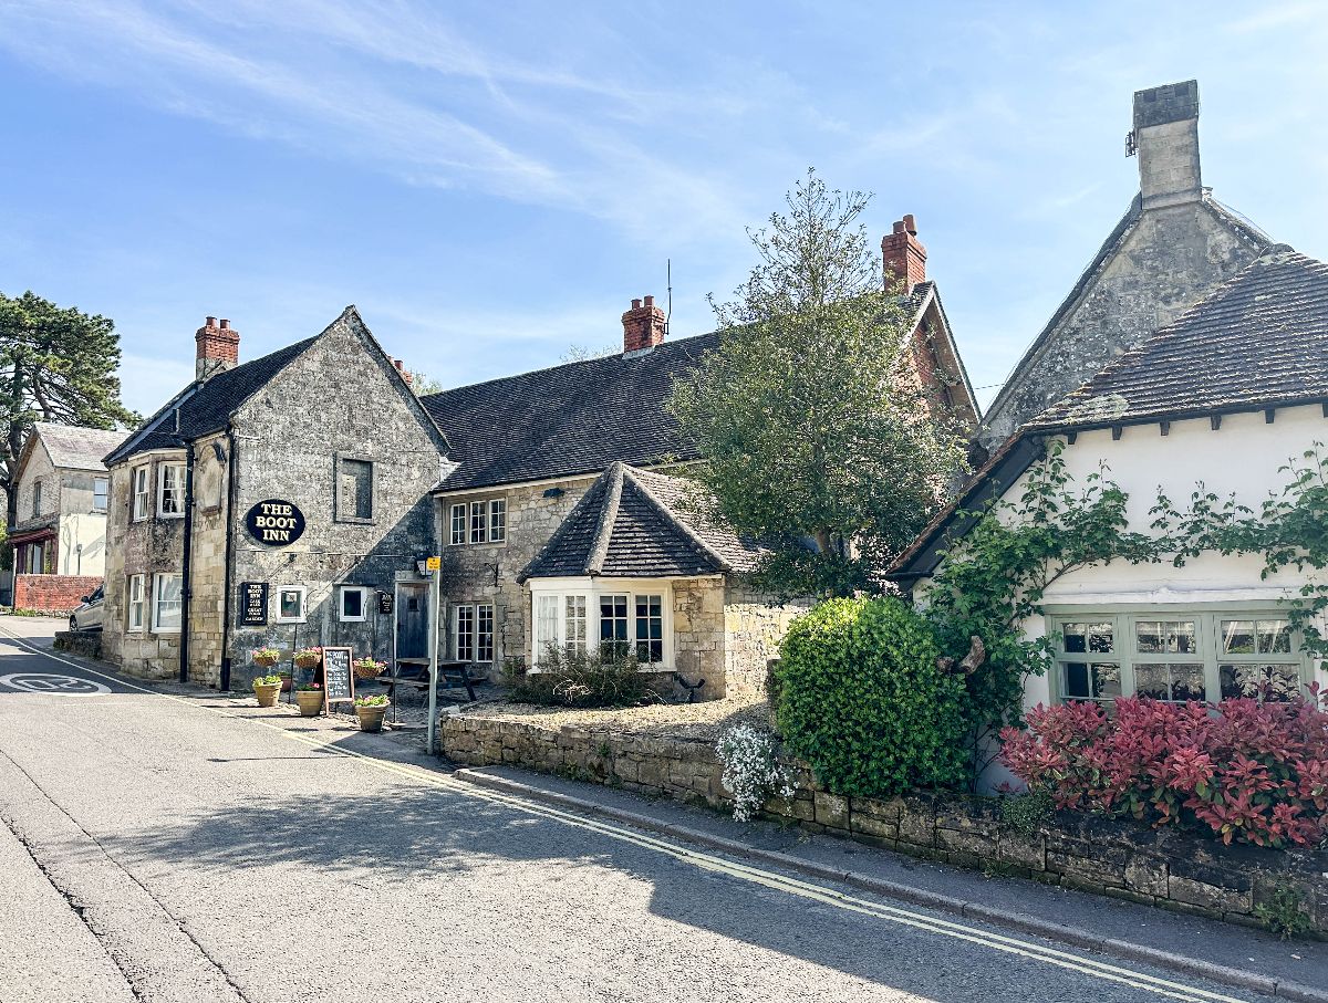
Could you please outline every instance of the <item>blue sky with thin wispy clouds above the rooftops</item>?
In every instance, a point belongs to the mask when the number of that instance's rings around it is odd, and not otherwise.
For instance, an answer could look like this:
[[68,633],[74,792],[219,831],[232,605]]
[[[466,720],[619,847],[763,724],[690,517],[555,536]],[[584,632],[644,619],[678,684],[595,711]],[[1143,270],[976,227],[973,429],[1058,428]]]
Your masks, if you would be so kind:
[[1135,191],[1138,88],[1198,77],[1204,183],[1328,255],[1324,53],[1317,3],[0,0],[0,291],[114,318],[143,411],[205,314],[254,358],[355,302],[459,385],[618,342],[668,257],[709,330],[814,165],[916,215],[989,386]]

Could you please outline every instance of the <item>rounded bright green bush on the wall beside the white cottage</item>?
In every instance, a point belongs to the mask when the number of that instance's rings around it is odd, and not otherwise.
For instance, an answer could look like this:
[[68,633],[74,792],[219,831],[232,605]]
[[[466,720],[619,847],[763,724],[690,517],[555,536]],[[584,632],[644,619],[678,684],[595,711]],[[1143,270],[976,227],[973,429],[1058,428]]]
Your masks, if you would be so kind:
[[830,791],[964,784],[964,681],[936,667],[931,629],[910,606],[822,602],[793,621],[780,651],[780,732]]

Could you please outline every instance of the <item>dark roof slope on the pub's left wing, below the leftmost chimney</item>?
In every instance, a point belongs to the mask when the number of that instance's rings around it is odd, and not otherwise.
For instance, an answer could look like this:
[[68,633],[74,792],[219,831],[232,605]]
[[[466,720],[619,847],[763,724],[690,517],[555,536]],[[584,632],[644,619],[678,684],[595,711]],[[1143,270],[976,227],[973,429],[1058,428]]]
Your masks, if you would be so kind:
[[[106,456],[106,463],[120,463],[149,450],[179,446],[181,440],[226,427],[235,410],[256,394],[290,362],[293,362],[315,338],[305,338],[278,349],[270,356],[218,373],[205,383],[190,383],[181,394],[143,422],[125,443]],[[175,413],[179,411],[179,426]]]

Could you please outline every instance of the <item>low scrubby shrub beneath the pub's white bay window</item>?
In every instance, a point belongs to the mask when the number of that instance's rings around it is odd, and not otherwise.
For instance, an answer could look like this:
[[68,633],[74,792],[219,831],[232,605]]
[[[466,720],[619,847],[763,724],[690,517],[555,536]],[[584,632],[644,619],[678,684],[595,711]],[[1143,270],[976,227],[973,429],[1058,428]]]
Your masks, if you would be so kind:
[[519,661],[503,665],[511,699],[548,707],[639,707],[659,703],[648,673],[639,671],[635,651],[567,651],[550,647],[538,671]]

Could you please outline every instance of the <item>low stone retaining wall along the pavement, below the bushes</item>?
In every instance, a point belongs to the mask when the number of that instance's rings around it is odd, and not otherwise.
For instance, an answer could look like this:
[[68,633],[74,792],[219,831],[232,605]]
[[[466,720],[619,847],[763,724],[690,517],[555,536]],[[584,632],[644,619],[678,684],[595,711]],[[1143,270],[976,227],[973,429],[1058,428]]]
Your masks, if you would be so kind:
[[[703,740],[452,715],[444,719],[441,742],[448,756],[467,766],[522,766],[716,808],[729,805],[714,747]],[[1287,884],[1328,939],[1324,852],[1222,846],[1065,812],[1024,833],[1001,820],[997,799],[839,797],[819,789],[806,768],[793,768],[797,793],[788,803],[770,801],[766,815],[811,832],[1244,925],[1258,925],[1255,907]]]

